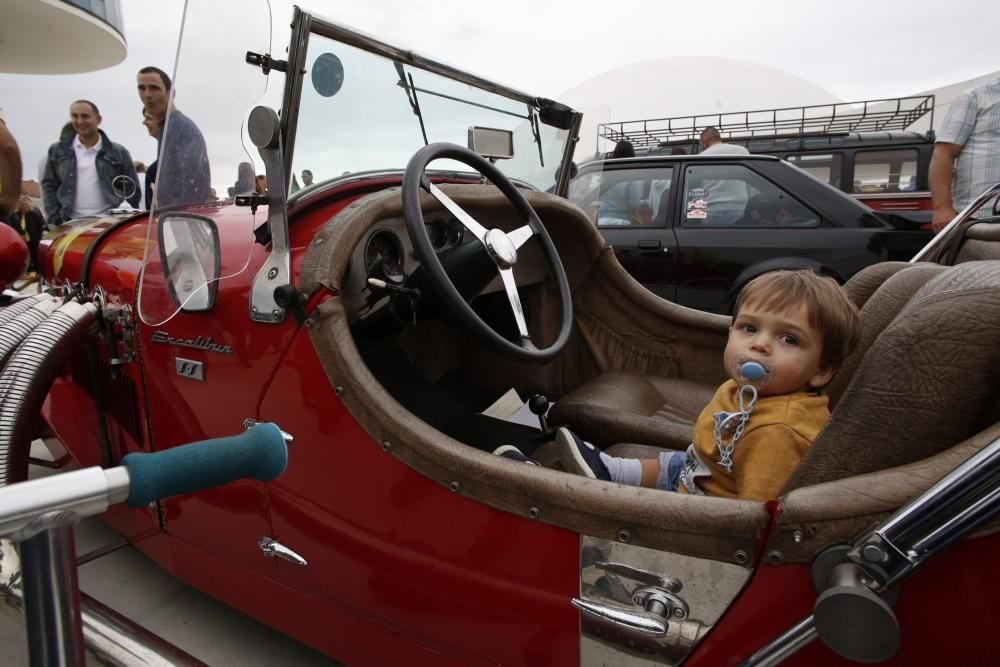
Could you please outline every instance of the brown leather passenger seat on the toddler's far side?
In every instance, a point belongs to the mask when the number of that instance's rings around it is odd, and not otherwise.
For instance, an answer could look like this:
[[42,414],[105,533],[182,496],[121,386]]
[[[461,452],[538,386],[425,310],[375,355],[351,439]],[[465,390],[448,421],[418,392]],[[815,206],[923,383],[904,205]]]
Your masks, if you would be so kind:
[[[945,268],[937,264],[883,262],[867,267],[848,281],[844,287],[862,311],[862,344],[831,383],[831,402],[843,393],[868,345],[910,296]],[[872,299],[883,284],[888,289]],[[721,348],[718,358],[721,366]],[[694,422],[717,387],[684,378],[611,371],[563,397],[553,406],[549,421],[569,426],[602,447],[638,443],[682,449],[691,442]]]

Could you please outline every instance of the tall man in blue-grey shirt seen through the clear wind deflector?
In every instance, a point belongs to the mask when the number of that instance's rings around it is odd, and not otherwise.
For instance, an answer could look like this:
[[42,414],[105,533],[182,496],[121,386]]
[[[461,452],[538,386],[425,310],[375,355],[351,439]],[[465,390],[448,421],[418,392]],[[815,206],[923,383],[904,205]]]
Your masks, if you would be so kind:
[[143,67],[137,83],[143,108],[159,124],[154,205],[163,208],[212,201],[205,138],[190,118],[170,104],[170,77],[157,67]]

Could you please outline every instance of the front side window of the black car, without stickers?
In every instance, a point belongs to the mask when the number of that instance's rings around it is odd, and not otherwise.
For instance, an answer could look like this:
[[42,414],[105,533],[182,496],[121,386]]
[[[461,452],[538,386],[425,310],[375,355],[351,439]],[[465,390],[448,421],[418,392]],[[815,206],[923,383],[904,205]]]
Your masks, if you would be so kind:
[[673,167],[609,169],[581,174],[569,200],[598,227],[666,224]]

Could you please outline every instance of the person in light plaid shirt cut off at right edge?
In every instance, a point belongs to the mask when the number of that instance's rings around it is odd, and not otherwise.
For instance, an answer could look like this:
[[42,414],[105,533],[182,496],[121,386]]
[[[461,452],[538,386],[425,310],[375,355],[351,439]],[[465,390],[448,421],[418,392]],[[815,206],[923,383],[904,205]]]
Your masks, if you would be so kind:
[[928,176],[935,232],[1000,181],[1000,76],[951,103],[937,131]]

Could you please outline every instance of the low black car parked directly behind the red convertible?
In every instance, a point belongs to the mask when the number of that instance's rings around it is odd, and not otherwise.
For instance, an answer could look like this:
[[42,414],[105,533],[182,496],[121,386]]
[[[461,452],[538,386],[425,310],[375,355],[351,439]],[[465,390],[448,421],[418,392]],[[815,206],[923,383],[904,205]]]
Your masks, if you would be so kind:
[[870,264],[910,259],[931,237],[764,155],[589,162],[568,197],[651,291],[726,314],[761,273],[811,268],[844,282]]

